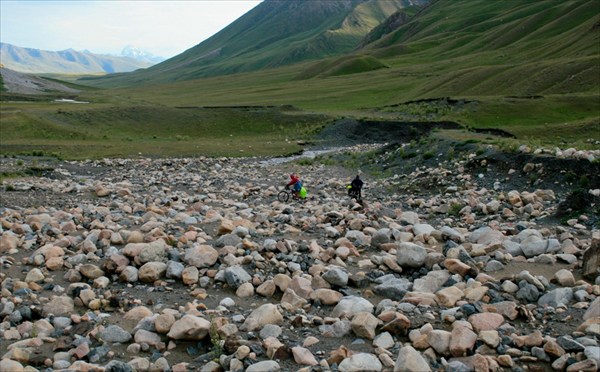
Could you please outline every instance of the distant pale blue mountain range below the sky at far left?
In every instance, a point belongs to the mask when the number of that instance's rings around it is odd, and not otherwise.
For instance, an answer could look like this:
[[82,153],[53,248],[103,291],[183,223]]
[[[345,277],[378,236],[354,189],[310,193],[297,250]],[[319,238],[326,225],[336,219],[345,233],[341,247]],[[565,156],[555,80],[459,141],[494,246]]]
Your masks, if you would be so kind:
[[104,74],[130,72],[156,63],[133,56],[118,57],[73,49],[52,52],[0,43],[2,65],[25,73]]

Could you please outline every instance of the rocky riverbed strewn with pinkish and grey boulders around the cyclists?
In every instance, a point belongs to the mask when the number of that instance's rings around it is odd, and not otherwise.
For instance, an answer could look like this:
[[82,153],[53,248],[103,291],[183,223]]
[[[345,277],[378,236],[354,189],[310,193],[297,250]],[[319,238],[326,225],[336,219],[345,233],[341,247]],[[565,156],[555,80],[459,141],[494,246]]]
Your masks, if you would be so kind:
[[[263,160],[6,179],[0,370],[598,370],[597,219],[556,217],[564,184],[511,183],[539,162],[363,174],[358,204],[355,170]],[[292,171],[309,198],[280,203]]]

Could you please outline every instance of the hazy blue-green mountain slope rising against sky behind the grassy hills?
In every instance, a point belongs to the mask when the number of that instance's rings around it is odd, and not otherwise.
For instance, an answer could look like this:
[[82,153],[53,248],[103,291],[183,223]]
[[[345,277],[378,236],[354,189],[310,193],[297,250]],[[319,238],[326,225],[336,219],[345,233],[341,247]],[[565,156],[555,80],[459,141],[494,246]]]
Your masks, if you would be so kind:
[[147,71],[100,84],[168,82],[338,56],[398,10],[428,0],[265,0],[229,26]]

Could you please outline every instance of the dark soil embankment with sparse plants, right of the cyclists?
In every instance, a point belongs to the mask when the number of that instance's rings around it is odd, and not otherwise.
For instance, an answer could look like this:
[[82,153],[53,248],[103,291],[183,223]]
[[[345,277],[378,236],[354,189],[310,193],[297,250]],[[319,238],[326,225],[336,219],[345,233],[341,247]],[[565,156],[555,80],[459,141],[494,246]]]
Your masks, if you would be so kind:
[[[453,141],[428,136],[435,128],[455,129],[452,122],[385,122],[340,120],[320,134],[329,146],[357,143],[388,143],[367,156],[336,156],[336,162],[351,163],[352,168],[367,173],[406,177],[407,192],[421,197],[444,193],[448,177],[423,169],[442,167],[456,174],[460,163],[479,188],[508,192],[511,190],[552,190],[561,204],[556,219],[566,221],[579,215],[589,217],[588,225],[600,223],[600,198],[588,192],[600,189],[600,167],[586,159],[557,158],[532,153],[502,152],[478,142]],[[480,131],[480,130],[477,130]],[[501,137],[511,134],[494,129],[485,133]],[[412,141],[412,142],[411,142]],[[476,154],[476,156],[474,156]],[[417,171],[421,169],[421,171]],[[412,175],[412,176],[410,176]]]

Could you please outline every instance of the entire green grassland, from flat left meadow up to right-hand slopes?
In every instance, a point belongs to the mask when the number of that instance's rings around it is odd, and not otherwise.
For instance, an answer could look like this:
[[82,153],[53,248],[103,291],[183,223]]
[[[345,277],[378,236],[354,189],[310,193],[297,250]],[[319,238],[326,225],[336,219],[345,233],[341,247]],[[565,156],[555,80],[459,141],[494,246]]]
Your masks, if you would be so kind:
[[[509,147],[599,148],[596,0],[438,0],[405,21],[318,61],[186,80],[190,70],[178,81],[80,93],[89,105],[3,103],[0,151],[277,155],[335,117],[450,120],[505,130],[516,136]],[[155,79],[175,76],[164,74]]]

